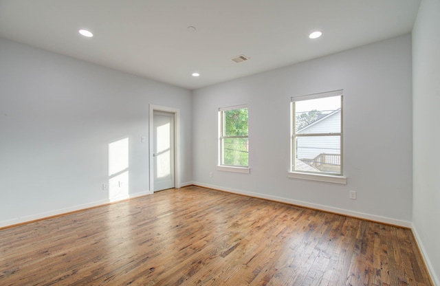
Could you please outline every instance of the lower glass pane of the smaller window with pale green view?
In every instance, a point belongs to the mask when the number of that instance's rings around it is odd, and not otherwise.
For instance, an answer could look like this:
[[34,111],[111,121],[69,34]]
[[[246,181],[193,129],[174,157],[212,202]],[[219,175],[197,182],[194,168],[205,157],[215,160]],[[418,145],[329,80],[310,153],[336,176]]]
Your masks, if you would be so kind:
[[223,138],[223,164],[248,166],[248,138]]

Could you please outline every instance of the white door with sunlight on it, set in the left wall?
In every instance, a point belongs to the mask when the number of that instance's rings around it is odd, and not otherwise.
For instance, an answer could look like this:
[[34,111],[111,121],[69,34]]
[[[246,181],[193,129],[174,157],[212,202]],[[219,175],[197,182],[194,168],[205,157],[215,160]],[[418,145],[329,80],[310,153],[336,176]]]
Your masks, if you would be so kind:
[[174,113],[154,111],[153,169],[154,191],[175,187]]

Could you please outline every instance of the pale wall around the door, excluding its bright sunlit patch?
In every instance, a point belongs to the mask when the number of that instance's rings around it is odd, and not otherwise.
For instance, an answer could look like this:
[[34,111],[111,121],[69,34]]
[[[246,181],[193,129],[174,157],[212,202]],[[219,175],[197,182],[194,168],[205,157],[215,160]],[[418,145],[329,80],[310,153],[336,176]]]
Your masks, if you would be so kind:
[[109,143],[126,137],[129,195],[148,191],[148,104],[181,110],[191,181],[190,91],[4,39],[0,63],[0,226],[109,201]]

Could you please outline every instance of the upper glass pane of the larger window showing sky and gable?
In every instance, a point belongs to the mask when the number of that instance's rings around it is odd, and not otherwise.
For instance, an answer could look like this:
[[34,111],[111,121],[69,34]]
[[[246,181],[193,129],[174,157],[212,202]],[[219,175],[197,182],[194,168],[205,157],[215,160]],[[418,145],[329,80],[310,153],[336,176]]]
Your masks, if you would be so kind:
[[340,133],[341,96],[294,102],[295,132]]

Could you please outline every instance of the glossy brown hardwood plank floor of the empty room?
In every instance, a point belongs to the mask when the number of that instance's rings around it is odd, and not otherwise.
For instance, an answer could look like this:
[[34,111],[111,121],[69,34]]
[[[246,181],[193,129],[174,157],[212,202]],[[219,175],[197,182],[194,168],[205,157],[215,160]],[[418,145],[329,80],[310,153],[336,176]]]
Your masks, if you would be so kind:
[[432,285],[412,233],[188,186],[0,230],[0,285]]

